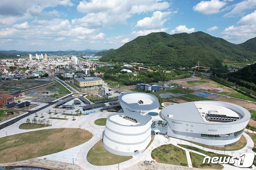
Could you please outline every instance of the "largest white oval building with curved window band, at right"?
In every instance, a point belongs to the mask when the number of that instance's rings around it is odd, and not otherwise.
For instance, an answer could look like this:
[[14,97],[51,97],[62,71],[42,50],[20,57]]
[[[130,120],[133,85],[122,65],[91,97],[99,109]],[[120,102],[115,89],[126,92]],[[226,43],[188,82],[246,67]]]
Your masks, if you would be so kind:
[[246,109],[219,101],[170,105],[161,110],[167,135],[210,146],[231,146],[241,137],[251,118]]

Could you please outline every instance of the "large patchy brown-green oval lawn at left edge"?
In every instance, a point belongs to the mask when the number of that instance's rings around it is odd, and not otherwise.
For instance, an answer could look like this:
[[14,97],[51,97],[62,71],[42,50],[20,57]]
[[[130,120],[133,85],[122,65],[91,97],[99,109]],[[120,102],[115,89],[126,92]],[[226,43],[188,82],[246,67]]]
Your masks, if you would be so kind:
[[0,138],[0,163],[37,158],[89,141],[92,134],[77,128],[54,128]]

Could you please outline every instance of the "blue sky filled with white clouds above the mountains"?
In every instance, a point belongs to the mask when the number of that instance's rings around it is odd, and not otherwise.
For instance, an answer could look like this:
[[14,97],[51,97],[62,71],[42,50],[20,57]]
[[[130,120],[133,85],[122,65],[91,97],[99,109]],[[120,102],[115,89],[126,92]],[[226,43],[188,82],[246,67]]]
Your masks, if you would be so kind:
[[256,36],[256,0],[1,0],[1,50],[117,49],[137,36]]

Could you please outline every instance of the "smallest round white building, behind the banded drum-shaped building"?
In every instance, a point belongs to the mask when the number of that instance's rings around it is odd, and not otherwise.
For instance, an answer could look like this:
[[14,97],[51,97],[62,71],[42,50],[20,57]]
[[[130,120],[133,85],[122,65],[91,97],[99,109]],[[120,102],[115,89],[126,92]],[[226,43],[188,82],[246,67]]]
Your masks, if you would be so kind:
[[124,112],[157,112],[158,98],[148,93],[132,92],[119,95],[118,100]]

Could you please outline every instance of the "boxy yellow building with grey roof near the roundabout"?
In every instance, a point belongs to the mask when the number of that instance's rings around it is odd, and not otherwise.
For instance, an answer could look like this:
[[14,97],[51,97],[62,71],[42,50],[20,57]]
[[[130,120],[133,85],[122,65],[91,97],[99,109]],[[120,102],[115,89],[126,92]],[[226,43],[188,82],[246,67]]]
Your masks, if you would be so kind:
[[83,77],[83,78],[75,78],[75,85],[81,88],[89,88],[102,86],[102,79],[99,77]]

